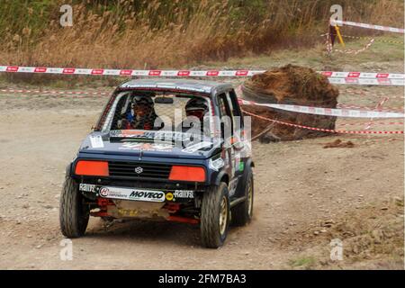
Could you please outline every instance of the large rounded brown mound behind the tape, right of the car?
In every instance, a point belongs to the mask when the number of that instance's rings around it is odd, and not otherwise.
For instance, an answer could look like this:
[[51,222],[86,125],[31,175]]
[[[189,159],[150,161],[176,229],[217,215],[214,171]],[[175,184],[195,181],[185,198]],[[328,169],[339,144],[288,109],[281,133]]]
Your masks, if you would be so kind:
[[[244,98],[258,103],[284,103],[336,108],[338,89],[328,78],[311,68],[287,65],[257,74],[242,85]],[[242,109],[276,121],[304,126],[335,129],[336,117],[286,112],[277,109],[242,105]],[[268,130],[263,133],[264,130]],[[329,132],[307,130],[252,117],[252,137],[262,141],[293,140],[327,136]]]

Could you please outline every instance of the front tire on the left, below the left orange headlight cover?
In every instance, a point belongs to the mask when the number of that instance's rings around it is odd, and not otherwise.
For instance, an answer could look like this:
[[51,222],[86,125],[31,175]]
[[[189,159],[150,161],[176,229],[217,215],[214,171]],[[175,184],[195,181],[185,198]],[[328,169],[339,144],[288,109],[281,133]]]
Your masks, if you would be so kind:
[[85,234],[90,214],[83,200],[76,182],[67,176],[59,202],[60,230],[67,238],[77,238]]

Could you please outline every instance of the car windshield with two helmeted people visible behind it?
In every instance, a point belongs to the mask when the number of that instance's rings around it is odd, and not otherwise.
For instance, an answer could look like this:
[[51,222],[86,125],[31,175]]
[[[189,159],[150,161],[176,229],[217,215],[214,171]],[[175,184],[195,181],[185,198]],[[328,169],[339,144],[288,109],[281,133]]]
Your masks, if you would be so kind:
[[184,139],[200,134],[207,139],[214,134],[206,95],[124,91],[116,94],[105,115],[102,131],[112,138]]

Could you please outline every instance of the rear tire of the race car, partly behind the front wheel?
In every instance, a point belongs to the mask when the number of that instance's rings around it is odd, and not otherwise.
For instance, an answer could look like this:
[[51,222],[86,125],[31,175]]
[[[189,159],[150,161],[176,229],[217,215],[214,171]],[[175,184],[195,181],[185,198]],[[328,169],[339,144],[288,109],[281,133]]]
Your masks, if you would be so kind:
[[[245,226],[252,220],[253,216],[253,198],[254,198],[254,185],[253,185],[253,173],[250,169],[247,175],[247,184],[245,187],[244,196],[246,201],[239,203],[232,208],[232,225],[234,226]],[[251,197],[249,198],[249,189],[251,189]],[[249,202],[251,202],[249,204]],[[250,210],[250,211],[249,211]]]

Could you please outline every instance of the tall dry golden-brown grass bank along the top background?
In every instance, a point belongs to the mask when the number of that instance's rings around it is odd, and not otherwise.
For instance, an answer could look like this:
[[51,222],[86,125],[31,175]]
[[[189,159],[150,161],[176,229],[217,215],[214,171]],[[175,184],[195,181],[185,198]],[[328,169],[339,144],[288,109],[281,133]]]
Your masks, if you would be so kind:
[[[58,7],[66,2],[4,0],[2,64],[154,68],[224,61],[319,42],[316,35],[326,29],[334,4],[332,0],[71,1],[74,25],[62,28]],[[401,1],[373,2],[341,1],[345,18],[403,26]]]

